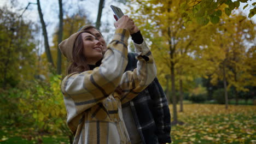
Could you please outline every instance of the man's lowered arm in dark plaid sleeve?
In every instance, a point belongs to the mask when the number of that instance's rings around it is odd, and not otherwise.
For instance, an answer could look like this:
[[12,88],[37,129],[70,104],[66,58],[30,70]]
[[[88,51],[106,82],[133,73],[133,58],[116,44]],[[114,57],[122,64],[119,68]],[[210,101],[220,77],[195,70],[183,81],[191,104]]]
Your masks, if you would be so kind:
[[154,101],[153,116],[159,143],[171,142],[171,116],[166,95],[157,78],[148,86],[150,97]]

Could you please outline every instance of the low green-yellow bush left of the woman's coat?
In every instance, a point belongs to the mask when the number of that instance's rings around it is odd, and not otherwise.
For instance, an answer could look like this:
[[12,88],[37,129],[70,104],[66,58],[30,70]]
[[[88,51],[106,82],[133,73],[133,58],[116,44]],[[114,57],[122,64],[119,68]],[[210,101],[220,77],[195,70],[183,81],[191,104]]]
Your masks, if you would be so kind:
[[11,119],[13,122],[10,124],[16,127],[30,125],[32,137],[40,133],[71,136],[66,124],[67,114],[60,84],[61,76],[52,75],[49,81],[26,81],[17,88],[1,93],[0,104],[3,107],[0,118],[5,121]]

